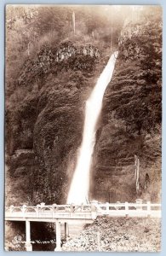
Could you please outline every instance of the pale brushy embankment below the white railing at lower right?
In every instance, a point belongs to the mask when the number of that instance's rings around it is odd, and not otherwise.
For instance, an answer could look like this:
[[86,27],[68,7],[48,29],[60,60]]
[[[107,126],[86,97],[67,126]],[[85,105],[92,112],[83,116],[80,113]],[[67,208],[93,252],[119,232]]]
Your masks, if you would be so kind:
[[161,222],[156,218],[97,218],[63,251],[159,252]]

